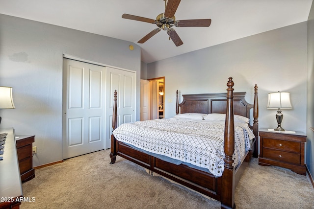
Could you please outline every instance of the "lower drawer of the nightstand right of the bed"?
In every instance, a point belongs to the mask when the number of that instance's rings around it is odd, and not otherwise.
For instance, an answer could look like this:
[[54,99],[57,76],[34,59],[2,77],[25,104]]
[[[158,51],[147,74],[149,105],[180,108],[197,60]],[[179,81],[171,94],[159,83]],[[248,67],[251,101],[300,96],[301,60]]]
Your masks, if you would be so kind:
[[287,163],[301,163],[301,155],[298,153],[284,152],[268,148],[263,148],[263,157]]

